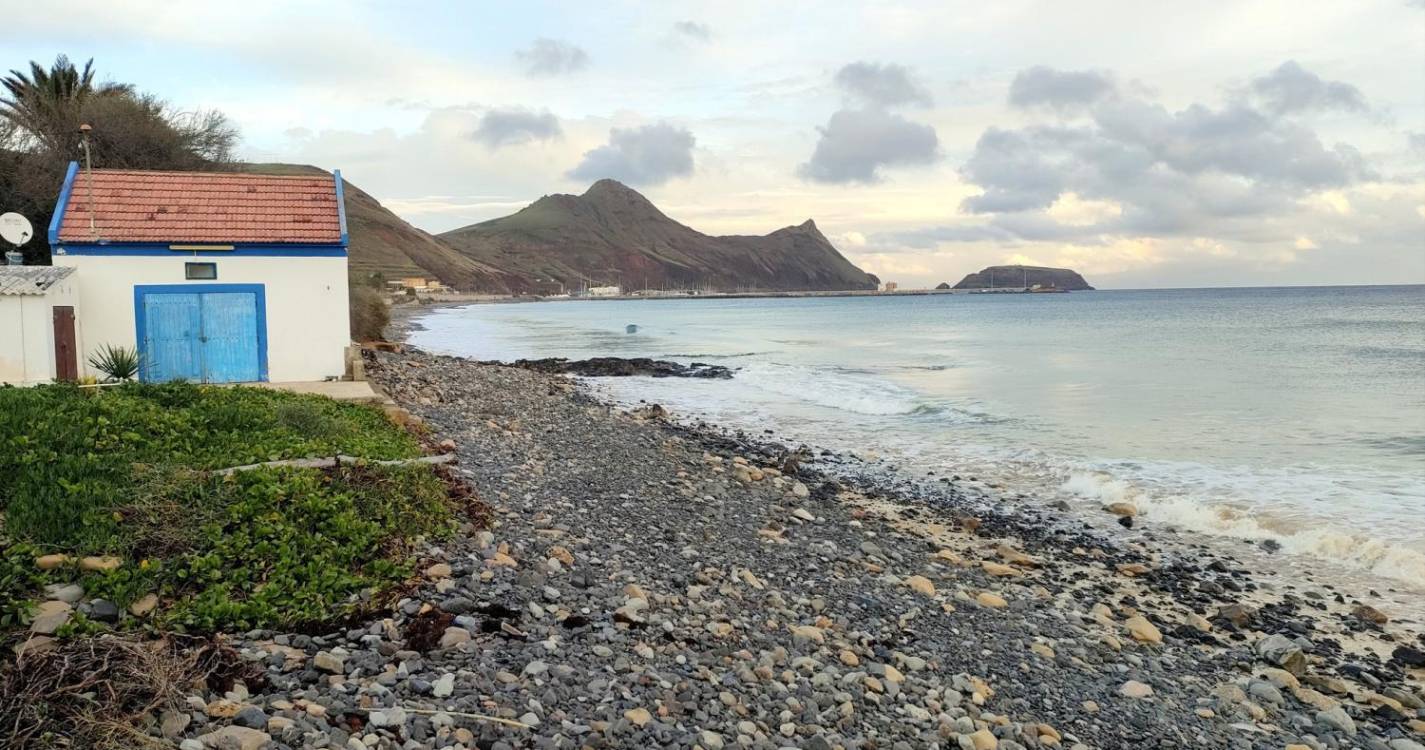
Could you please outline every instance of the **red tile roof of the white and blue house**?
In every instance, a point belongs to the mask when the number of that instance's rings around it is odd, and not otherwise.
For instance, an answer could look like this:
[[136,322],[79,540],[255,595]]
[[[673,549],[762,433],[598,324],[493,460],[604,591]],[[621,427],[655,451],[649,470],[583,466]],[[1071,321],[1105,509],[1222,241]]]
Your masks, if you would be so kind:
[[61,242],[338,244],[336,180],[94,170],[74,175]]

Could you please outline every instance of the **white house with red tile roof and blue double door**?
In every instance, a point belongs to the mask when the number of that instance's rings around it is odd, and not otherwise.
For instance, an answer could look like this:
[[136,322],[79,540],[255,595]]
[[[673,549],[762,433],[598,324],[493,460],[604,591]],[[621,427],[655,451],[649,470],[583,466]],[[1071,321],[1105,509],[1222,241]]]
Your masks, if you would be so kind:
[[81,173],[71,164],[50,248],[54,265],[74,269],[81,372],[104,345],[135,346],[145,381],[346,372],[341,173]]

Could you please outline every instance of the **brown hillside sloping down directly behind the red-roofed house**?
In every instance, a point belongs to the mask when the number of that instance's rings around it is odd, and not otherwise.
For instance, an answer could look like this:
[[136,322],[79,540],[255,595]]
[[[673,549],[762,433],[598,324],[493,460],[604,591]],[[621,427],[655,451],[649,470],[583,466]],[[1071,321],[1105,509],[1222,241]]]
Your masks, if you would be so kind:
[[[244,171],[259,174],[325,174],[306,164],[245,164]],[[359,187],[345,183],[346,231],[351,235],[348,262],[353,279],[382,274],[435,277],[457,289],[493,294],[526,289],[523,278],[462,255],[430,234],[392,214]]]

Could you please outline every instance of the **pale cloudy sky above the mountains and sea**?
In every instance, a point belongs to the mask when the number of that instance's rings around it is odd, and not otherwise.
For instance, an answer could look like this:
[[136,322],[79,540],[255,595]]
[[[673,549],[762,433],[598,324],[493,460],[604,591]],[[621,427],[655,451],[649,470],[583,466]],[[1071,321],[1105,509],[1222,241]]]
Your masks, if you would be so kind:
[[812,218],[902,288],[1425,282],[1425,0],[0,0],[241,157],[440,232],[621,180],[707,234]]

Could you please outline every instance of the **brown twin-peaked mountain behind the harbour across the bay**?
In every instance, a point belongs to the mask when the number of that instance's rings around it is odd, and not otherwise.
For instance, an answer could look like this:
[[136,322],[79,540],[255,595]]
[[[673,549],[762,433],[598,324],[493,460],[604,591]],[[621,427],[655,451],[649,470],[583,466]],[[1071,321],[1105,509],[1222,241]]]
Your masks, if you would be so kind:
[[583,284],[874,289],[879,282],[844,258],[809,220],[761,237],[710,237],[668,218],[614,180],[600,180],[583,195],[546,195],[516,214],[437,240],[472,262],[522,277],[542,291]]

